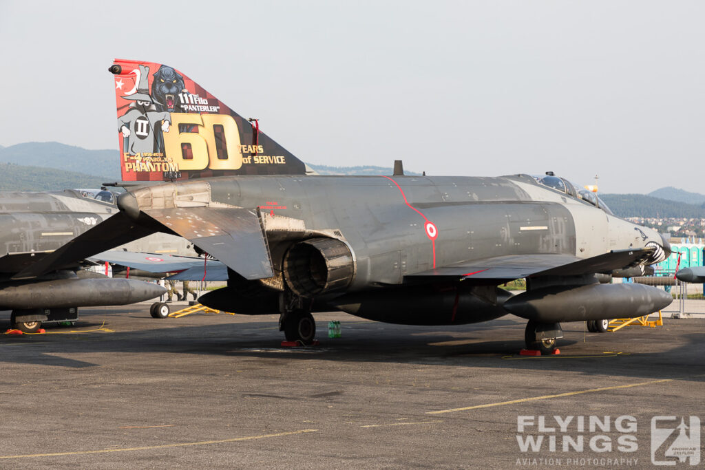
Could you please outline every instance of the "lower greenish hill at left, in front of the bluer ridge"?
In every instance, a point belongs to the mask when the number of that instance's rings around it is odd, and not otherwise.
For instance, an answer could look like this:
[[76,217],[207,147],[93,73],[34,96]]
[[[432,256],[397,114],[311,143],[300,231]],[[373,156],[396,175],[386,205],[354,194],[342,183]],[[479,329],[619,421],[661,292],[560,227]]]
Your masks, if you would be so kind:
[[0,163],[0,191],[49,191],[100,187],[106,179],[73,171]]

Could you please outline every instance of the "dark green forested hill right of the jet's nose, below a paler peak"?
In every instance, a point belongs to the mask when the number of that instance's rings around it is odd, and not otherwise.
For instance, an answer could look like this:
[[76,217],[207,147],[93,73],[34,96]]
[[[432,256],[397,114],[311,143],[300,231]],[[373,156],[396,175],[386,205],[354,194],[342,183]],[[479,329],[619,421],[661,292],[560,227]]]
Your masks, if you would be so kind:
[[703,204],[685,204],[644,194],[600,194],[600,198],[620,217],[705,218]]

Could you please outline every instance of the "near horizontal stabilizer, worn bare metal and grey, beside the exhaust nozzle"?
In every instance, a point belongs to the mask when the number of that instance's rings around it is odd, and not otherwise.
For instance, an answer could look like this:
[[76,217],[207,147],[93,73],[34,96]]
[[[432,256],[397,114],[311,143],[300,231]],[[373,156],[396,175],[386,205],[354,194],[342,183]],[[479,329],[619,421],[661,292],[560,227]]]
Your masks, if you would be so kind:
[[259,217],[247,209],[189,207],[144,212],[245,279],[274,276]]

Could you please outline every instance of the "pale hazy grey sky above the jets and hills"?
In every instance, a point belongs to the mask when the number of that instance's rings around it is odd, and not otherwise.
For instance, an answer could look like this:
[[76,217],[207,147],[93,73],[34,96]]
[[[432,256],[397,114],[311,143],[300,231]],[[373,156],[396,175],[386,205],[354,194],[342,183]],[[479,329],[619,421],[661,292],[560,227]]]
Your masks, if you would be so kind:
[[0,0],[0,145],[117,149],[107,68],[133,58],[308,163],[705,192],[704,20],[702,1]]

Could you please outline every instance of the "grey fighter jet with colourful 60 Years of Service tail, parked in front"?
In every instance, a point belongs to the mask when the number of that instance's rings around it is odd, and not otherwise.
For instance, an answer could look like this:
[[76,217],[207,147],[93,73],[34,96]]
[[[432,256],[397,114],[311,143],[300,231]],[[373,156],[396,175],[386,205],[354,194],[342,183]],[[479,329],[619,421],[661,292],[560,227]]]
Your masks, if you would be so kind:
[[[393,175],[307,175],[257,121],[177,70],[115,61],[110,71],[123,180],[172,182],[121,194],[119,214],[18,278],[161,231],[227,266],[228,286],[202,304],[278,312],[288,340],[313,340],[312,312],[331,309],[423,325],[512,313],[528,321],[527,347],[545,353],[560,322],[642,316],[672,300],[600,283],[665,259],[668,242],[556,175],[407,176],[401,164]],[[517,278],[527,292],[501,288]]]

